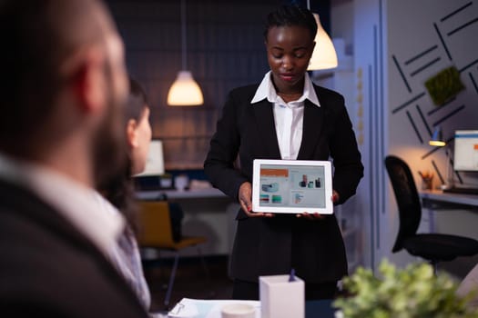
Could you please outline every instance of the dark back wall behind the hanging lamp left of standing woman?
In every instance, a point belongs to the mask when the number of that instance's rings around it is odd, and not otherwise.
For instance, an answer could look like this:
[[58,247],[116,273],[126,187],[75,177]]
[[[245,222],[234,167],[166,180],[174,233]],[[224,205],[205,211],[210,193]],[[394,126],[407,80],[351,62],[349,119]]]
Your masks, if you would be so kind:
[[126,45],[127,69],[147,90],[153,136],[167,169],[202,168],[226,94],[269,70],[263,25],[280,0],[186,1],[187,65],[201,86],[198,107],[166,104],[182,68],[180,1],[107,1]]

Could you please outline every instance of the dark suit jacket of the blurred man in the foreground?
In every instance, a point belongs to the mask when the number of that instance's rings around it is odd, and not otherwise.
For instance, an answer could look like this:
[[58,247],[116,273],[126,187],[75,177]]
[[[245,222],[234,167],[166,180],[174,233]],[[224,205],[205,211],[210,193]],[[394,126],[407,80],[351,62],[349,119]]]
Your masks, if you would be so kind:
[[0,316],[147,313],[96,245],[35,194],[0,181]]

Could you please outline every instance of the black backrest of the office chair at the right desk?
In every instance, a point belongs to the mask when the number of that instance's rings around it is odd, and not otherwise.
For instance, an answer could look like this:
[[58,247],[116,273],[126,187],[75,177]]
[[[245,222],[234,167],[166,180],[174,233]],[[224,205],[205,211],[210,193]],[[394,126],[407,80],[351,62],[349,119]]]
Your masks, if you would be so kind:
[[416,234],[422,219],[422,204],[408,164],[389,155],[385,158],[385,166],[399,208],[399,232],[392,248],[395,253],[402,250],[403,241],[407,237]]

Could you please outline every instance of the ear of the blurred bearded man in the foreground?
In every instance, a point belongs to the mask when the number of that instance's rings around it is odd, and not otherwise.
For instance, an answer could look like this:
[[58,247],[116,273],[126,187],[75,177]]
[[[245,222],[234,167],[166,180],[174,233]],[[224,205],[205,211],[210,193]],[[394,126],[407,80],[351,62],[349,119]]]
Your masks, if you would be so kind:
[[106,104],[107,85],[105,56],[97,48],[88,49],[77,57],[72,74],[72,88],[85,112],[97,112]]

